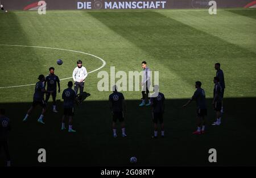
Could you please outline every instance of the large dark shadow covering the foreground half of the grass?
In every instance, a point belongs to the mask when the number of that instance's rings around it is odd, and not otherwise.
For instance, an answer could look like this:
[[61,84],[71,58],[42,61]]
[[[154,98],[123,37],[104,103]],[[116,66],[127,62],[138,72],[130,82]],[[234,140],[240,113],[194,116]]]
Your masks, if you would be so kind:
[[[256,165],[255,103],[256,98],[226,98],[222,125],[211,126],[214,111],[208,102],[208,125],[205,135],[192,135],[196,129],[195,103],[186,109],[187,100],[167,100],[164,114],[166,138],[152,140],[150,107],[139,107],[140,101],[126,101],[127,138],[112,136],[112,116],[108,101],[84,101],[75,107],[73,128],[77,133],[61,131],[62,102],[57,103],[59,113],[52,113],[51,103],[44,121],[36,119],[40,107],[28,118],[22,119],[31,103],[5,103],[11,119],[10,151],[13,165],[49,166],[126,166],[136,156],[137,165]],[[38,163],[38,149],[47,151],[47,163]],[[210,148],[217,150],[217,163],[208,162]],[[0,164],[4,156],[0,154]]]

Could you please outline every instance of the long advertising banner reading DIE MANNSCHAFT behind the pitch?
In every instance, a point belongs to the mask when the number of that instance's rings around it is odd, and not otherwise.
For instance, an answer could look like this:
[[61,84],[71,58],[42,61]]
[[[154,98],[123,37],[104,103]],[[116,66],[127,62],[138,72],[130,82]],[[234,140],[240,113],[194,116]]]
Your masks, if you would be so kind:
[[[48,10],[204,9],[210,0],[44,0]],[[215,0],[218,8],[253,7],[253,0]],[[0,0],[8,10],[36,10],[36,0]]]

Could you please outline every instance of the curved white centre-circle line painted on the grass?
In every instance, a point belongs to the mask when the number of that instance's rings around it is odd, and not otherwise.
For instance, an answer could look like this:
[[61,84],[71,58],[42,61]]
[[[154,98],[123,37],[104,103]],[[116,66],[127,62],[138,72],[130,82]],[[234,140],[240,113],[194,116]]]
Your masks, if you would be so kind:
[[[96,57],[97,59],[100,59],[102,61],[102,65],[101,67],[90,71],[88,73],[93,73],[96,72],[98,70],[100,70],[101,68],[104,68],[104,66],[106,65],[106,61],[104,59],[101,59],[98,56],[92,55],[90,53],[86,53],[86,52],[81,52],[81,51],[75,51],[75,50],[70,50],[70,49],[61,49],[61,48],[50,48],[50,47],[39,47],[39,46],[32,46],[32,45],[14,45],[14,44],[0,44],[3,46],[13,46],[13,47],[31,47],[31,48],[44,48],[44,49],[56,49],[56,50],[61,50],[61,51],[69,51],[69,52],[77,52],[77,53],[82,53],[84,55],[89,55],[89,56],[93,56]],[[67,80],[69,78],[73,78],[73,77],[68,77],[68,78],[61,78],[60,80]],[[17,87],[22,87],[22,86],[31,86],[31,85],[35,85],[35,84],[27,84],[27,85],[16,85],[16,86],[2,86],[0,87],[0,89],[4,89],[4,88],[17,88]]]

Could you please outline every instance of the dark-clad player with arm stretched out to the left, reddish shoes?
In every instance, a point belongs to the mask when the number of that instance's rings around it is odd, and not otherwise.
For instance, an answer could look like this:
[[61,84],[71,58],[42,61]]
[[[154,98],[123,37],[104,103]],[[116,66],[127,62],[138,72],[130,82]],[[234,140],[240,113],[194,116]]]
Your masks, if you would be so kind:
[[[193,94],[192,98],[188,100],[188,102],[183,105],[186,107],[191,101],[196,101],[197,106],[197,131],[193,132],[192,134],[204,134],[205,131],[205,116],[207,116],[207,105],[205,100],[205,92],[204,89],[201,88],[202,83],[200,81],[196,81],[196,92]],[[201,128],[202,126],[202,128]]]

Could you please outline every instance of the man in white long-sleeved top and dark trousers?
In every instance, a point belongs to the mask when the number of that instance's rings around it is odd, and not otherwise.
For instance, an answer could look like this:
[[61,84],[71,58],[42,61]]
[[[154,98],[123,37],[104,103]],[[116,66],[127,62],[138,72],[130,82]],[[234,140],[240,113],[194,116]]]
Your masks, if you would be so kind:
[[73,71],[73,80],[75,82],[75,92],[78,94],[78,90],[80,90],[80,96],[84,92],[84,81],[88,76],[86,68],[82,66],[82,61],[77,61],[77,67]]

